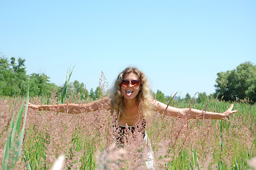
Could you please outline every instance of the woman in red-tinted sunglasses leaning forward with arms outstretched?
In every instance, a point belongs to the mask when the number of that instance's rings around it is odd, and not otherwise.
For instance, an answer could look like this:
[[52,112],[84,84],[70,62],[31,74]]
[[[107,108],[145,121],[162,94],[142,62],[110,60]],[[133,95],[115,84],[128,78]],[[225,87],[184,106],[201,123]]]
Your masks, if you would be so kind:
[[[111,101],[110,103],[108,101]],[[150,88],[148,81],[143,72],[135,67],[127,67],[121,72],[113,86],[110,96],[102,98],[99,101],[86,104],[59,104],[59,105],[33,105],[29,103],[29,107],[38,110],[50,111],[55,109],[59,112],[68,113],[84,113],[87,111],[96,111],[101,107],[101,103],[109,103],[109,110],[116,113],[118,120],[118,134],[116,140],[119,144],[125,142],[123,136],[125,132],[139,132],[143,135],[143,143],[148,145],[148,160],[146,165],[149,169],[154,169],[152,157],[152,148],[148,135],[145,132],[146,118],[152,115],[152,111],[158,111],[166,115],[179,118],[209,118],[209,119],[225,119],[232,113],[233,105],[224,113],[213,113],[208,111],[200,111],[193,108],[174,108],[167,106],[160,101],[156,101],[150,96]],[[128,129],[127,129],[128,128]]]

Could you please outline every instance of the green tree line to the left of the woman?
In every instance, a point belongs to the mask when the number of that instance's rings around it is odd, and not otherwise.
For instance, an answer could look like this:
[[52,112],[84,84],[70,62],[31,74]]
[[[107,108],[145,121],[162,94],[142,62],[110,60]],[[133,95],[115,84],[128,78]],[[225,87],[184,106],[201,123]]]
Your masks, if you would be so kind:
[[[25,61],[21,58],[16,60],[15,57],[11,57],[11,60],[0,57],[0,96],[25,96],[28,86],[30,96],[50,97],[53,91],[62,94],[65,86],[50,83],[50,77],[47,75],[38,73],[28,75]],[[67,85],[67,96],[78,93],[80,99],[90,98],[94,101],[100,97],[101,89],[98,86],[95,91],[92,88],[88,91],[85,84],[77,80]]]

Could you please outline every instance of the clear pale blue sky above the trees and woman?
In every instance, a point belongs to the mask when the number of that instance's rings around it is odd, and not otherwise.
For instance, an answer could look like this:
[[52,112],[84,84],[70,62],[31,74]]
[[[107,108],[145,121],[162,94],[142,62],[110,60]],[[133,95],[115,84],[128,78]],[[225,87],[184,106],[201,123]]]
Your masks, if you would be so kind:
[[256,64],[256,1],[0,0],[0,52],[57,85],[135,66],[155,92],[211,94],[218,72]]

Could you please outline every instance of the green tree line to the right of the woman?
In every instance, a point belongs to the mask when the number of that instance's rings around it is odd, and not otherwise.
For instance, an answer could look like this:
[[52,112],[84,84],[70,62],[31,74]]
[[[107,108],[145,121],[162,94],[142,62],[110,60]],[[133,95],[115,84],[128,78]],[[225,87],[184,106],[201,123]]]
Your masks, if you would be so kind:
[[[239,64],[233,70],[218,72],[213,94],[207,96],[206,92],[199,92],[198,98],[186,94],[185,98],[177,97],[177,100],[189,103],[201,103],[208,101],[209,98],[218,98],[223,101],[246,101],[256,102],[256,65],[252,62]],[[163,103],[169,101],[170,96],[165,96],[162,91],[157,91],[156,98]]]

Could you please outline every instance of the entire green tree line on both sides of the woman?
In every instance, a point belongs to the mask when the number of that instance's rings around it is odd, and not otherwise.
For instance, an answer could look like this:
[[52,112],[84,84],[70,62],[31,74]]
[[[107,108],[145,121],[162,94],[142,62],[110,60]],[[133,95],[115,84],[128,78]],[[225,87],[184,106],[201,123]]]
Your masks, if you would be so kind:
[[[50,83],[50,77],[45,74],[33,73],[28,75],[25,61],[21,58],[16,60],[15,57],[11,57],[11,60],[5,57],[0,58],[0,96],[24,96],[28,86],[30,86],[30,96],[50,97],[52,91],[60,94],[64,88],[67,88],[67,95],[74,94],[76,96],[79,94],[79,97],[85,100],[89,98],[94,101],[101,96],[102,92],[99,86],[96,87],[95,91],[92,88],[88,91],[86,85],[77,80],[65,87]],[[186,94],[184,98],[177,96],[174,99],[189,103],[206,102],[208,98],[256,102],[256,65],[252,62],[244,62],[233,70],[217,73],[217,76],[215,93],[207,96],[206,92],[199,92],[198,98]],[[156,94],[152,93],[158,101],[163,103],[167,103],[172,98],[172,96],[165,96],[160,90],[157,90]]]

